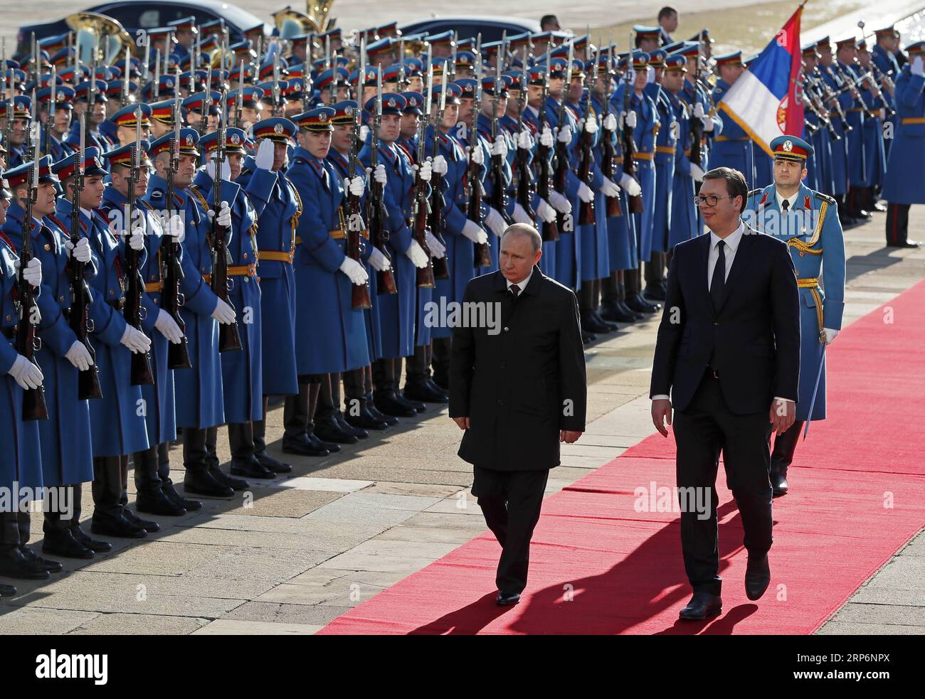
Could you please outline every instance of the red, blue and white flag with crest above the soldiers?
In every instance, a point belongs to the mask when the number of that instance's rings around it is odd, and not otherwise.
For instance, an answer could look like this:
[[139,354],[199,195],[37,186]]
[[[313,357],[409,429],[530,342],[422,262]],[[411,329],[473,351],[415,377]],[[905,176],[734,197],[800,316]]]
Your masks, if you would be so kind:
[[777,32],[725,93],[719,107],[769,154],[778,136],[803,135],[800,85],[800,16],[803,6]]

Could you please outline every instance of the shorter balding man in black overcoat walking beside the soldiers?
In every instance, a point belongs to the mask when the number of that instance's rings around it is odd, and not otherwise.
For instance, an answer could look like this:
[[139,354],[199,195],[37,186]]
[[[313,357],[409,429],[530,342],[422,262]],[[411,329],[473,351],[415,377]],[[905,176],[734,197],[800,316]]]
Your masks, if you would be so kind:
[[488,322],[453,330],[450,417],[465,430],[459,455],[475,466],[472,494],[503,549],[497,602],[513,605],[560,442],[585,431],[587,386],[578,301],[536,267],[536,228],[514,224],[500,242],[500,270],[462,295],[463,317]]

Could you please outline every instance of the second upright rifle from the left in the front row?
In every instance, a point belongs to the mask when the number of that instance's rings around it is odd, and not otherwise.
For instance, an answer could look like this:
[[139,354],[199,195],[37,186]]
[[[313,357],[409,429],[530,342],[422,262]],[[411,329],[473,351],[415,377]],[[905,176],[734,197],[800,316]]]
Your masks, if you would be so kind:
[[[83,159],[86,153],[86,132],[84,120],[86,113],[80,115],[80,152],[74,157],[78,158],[74,167],[74,195],[70,207],[70,241],[74,245],[80,242],[80,192],[83,191]],[[88,369],[78,374],[78,399],[88,400],[103,398],[103,389],[100,387],[100,370],[96,365],[96,352],[90,344],[89,334],[93,332],[93,321],[90,320],[90,288],[84,278],[87,263],[81,263],[73,257],[68,262],[70,272],[70,329],[74,331],[77,339],[93,357],[93,363]],[[133,355],[134,356],[134,355]]]

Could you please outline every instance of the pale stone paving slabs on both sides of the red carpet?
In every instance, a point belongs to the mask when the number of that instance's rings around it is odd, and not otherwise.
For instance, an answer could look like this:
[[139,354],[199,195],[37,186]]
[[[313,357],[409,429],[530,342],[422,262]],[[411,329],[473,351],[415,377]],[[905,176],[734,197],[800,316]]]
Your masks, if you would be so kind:
[[[883,218],[846,233],[845,325],[925,276],[925,251],[883,248]],[[925,238],[925,206],[911,218],[911,237]],[[653,318],[586,348],[587,432],[563,448],[549,493],[654,433],[657,325]],[[271,411],[269,435],[282,434],[281,419],[281,408]],[[431,407],[326,459],[289,457],[290,478],[253,482],[244,497],[206,500],[184,517],[154,518],[161,532],[141,542],[113,540],[111,554],[67,561],[50,581],[17,582],[19,596],[0,604],[0,633],[313,633],[485,530],[468,492],[471,467],[456,456],[459,439],[446,409]],[[281,456],[278,441],[270,449]],[[219,455],[230,456],[222,433]],[[179,449],[171,460],[181,468]],[[171,475],[182,482],[181,471]],[[92,502],[88,487],[84,503]],[[33,516],[36,550],[41,525]],[[923,573],[919,533],[820,632],[925,632]]]

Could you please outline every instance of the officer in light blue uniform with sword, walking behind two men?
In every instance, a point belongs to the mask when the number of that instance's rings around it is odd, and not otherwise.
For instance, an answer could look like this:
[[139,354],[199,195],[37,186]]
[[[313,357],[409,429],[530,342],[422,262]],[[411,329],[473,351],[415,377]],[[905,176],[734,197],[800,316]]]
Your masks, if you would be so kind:
[[760,232],[787,241],[800,288],[796,422],[775,438],[771,451],[771,487],[775,496],[783,496],[788,490],[787,469],[793,462],[803,423],[825,419],[825,347],[842,327],[845,239],[833,198],[802,184],[812,146],[796,136],[778,136],[770,146],[774,153],[774,184],[749,192],[743,218]]

